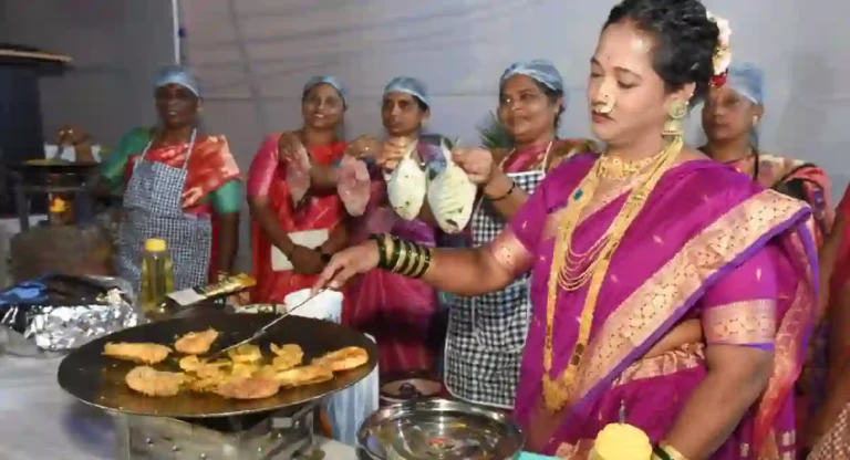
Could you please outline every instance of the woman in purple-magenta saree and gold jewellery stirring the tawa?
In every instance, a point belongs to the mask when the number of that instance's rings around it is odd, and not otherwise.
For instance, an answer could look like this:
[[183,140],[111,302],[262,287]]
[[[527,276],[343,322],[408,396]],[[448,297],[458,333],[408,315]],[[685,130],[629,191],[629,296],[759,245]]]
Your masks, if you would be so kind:
[[817,292],[811,211],[682,139],[688,104],[722,84],[725,25],[696,0],[618,4],[588,81],[607,153],[550,172],[488,244],[374,236],[317,286],[377,266],[478,295],[531,270],[514,412],[527,450],[588,458],[622,417],[654,458],[794,458],[791,389]]

